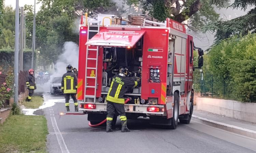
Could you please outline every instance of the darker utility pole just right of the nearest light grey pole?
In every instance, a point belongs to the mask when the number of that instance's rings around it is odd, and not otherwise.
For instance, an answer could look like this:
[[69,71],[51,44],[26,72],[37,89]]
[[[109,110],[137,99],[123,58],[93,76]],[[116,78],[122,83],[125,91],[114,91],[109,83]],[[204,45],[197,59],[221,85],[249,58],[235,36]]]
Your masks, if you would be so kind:
[[23,71],[23,45],[24,45],[24,7],[20,7],[20,48],[19,48],[19,70]]

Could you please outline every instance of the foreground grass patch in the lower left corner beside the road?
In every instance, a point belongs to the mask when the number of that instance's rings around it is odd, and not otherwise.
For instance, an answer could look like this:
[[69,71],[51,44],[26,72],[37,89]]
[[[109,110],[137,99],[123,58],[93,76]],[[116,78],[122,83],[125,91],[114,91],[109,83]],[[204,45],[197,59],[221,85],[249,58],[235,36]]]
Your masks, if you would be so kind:
[[0,153],[45,153],[47,134],[44,116],[11,115],[0,125]]

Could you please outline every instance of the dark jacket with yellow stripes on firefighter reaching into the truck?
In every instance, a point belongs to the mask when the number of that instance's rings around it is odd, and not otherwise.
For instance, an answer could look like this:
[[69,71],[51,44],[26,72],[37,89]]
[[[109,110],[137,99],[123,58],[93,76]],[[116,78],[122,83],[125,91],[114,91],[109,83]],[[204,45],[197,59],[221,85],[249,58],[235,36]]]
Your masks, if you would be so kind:
[[119,74],[115,75],[112,79],[107,101],[124,104],[124,95],[128,87],[136,87],[138,85],[137,81],[131,81],[129,77],[122,77]]

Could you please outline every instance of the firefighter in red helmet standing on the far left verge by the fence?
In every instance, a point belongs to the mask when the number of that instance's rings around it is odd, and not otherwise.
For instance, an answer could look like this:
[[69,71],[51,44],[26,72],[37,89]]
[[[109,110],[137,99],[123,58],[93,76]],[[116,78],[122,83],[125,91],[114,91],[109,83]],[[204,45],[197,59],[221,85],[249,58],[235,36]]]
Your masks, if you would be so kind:
[[37,89],[37,86],[35,85],[34,70],[29,69],[28,73],[29,73],[29,75],[26,79],[26,85],[28,87],[28,97],[27,97],[26,101],[31,101],[31,97],[34,93],[34,90]]

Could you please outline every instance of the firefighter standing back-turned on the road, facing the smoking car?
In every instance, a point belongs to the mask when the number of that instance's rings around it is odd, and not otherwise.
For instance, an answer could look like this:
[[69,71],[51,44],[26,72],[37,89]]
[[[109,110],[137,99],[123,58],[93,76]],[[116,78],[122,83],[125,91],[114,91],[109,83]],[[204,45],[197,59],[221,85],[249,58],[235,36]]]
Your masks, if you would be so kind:
[[74,100],[74,106],[75,106],[75,112],[78,112],[78,103],[76,99],[76,91],[77,91],[77,77],[76,74],[72,72],[73,67],[68,64],[67,66],[67,73],[63,74],[62,80],[61,80],[61,90],[63,94],[65,95],[66,100],[66,108],[67,112],[70,111],[69,109],[69,99],[70,96]]

